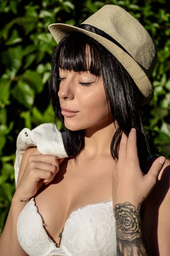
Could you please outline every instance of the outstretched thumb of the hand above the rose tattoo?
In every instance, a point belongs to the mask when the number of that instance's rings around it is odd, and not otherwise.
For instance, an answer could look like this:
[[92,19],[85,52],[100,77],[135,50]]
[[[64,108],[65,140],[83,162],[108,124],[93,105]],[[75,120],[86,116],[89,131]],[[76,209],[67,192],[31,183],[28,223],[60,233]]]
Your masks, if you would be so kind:
[[159,172],[161,171],[164,163],[165,163],[166,158],[161,156],[158,157],[150,167],[149,172],[147,175],[145,175],[145,179],[147,179],[150,183],[150,185],[154,186],[156,183],[156,180],[158,179]]

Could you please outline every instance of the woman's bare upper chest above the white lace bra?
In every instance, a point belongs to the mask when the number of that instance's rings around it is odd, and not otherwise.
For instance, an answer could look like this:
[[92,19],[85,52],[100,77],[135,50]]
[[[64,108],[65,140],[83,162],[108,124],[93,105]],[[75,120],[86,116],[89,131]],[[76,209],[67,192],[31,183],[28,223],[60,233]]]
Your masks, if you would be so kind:
[[54,180],[36,194],[38,212],[54,242],[59,244],[59,234],[71,213],[112,197],[113,166],[110,158],[80,159],[79,164],[65,159]]

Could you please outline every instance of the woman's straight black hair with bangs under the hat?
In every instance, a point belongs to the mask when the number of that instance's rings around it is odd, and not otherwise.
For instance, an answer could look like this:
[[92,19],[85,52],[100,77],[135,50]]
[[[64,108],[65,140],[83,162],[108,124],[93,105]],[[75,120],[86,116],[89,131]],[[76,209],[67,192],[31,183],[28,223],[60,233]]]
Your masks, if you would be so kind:
[[[87,46],[91,61],[88,61]],[[52,57],[51,76],[49,80],[49,100],[54,109],[55,122],[59,120],[66,131],[65,150],[68,157],[79,155],[85,146],[84,130],[71,131],[64,125],[59,103],[59,67],[65,70],[81,72],[89,70],[91,74],[102,76],[107,102],[111,108],[113,122],[119,127],[111,141],[111,156],[118,160],[119,144],[122,132],[130,133],[132,127],[137,132],[138,157],[141,169],[146,158],[159,151],[151,150],[142,121],[141,92],[127,70],[118,59],[95,39],[79,32],[69,32],[57,45]],[[157,152],[156,152],[157,151]]]

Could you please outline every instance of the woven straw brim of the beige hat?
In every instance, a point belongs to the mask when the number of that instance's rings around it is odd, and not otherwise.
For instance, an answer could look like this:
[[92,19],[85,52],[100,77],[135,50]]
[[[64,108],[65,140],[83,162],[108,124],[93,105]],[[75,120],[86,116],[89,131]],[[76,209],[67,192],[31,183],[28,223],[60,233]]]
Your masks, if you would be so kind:
[[89,32],[85,29],[81,29],[68,24],[54,23],[49,25],[48,29],[51,32],[51,35],[54,37],[57,44],[65,35],[72,31],[77,31],[85,35],[88,35],[91,38],[94,38],[106,49],[108,49],[120,61],[120,63],[125,67],[127,72],[130,74],[132,79],[135,81],[137,87],[141,92],[141,105],[145,105],[153,99],[153,85],[151,84],[146,73],[144,72],[144,70],[142,70],[139,64],[119,46],[109,41],[108,39],[102,37],[101,35],[97,35],[93,32]]

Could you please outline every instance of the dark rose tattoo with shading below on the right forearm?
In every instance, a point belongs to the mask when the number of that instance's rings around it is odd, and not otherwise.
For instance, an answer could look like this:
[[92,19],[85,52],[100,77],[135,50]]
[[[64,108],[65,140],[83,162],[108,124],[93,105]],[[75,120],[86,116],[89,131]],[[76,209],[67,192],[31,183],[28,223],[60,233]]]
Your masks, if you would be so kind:
[[150,256],[142,231],[142,203],[137,209],[129,202],[115,205],[117,256]]

